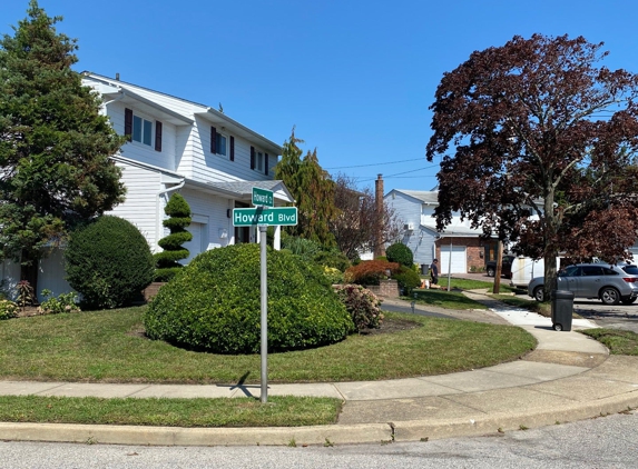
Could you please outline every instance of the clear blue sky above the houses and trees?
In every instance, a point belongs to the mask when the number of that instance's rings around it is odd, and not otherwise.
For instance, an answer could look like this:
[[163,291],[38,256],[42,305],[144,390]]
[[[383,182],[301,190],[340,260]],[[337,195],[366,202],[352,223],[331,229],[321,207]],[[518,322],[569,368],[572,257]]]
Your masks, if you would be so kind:
[[[9,4],[7,4],[9,3]],[[514,34],[603,41],[638,72],[635,0],[40,0],[90,70],[217,107],[283,143],[296,126],[332,174],[385,191],[431,190],[434,91],[474,50]],[[28,0],[0,7],[0,33]]]

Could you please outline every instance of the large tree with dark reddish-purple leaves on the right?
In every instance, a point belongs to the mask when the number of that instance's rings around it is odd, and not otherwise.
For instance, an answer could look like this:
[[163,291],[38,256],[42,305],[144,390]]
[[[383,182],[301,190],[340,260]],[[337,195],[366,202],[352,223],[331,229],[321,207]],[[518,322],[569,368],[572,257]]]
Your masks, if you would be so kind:
[[597,67],[601,47],[514,37],[445,73],[430,108],[438,227],[458,210],[544,258],[546,293],[560,251],[622,256],[638,230],[638,76]]

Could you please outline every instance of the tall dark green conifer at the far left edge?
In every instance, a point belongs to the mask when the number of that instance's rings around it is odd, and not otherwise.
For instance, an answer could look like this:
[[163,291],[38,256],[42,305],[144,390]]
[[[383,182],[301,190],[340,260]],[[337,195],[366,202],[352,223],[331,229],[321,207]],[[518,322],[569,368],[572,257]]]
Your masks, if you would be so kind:
[[124,200],[109,160],[125,139],[100,116],[100,98],[71,70],[76,40],[32,0],[0,41],[0,249],[37,288],[38,260],[80,220]]

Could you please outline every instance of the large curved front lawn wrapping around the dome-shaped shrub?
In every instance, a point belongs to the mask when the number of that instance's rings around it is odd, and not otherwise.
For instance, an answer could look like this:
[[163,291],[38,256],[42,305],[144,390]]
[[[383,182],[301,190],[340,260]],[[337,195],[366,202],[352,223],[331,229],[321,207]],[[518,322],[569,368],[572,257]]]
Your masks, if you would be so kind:
[[[259,380],[259,355],[194,352],[144,337],[145,307],[0,321],[0,378],[235,385]],[[357,381],[441,375],[516,359],[536,339],[520,328],[387,313],[416,326],[268,355],[271,382]]]

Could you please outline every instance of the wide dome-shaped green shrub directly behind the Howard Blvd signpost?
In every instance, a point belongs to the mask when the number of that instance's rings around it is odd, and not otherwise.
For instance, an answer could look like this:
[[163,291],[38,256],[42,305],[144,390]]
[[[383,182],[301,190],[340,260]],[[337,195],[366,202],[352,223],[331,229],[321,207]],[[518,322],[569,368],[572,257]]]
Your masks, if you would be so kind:
[[[267,252],[268,351],[343,340],[354,330],[345,307],[314,263],[289,251]],[[204,252],[167,285],[144,316],[146,335],[215,353],[256,353],[261,347],[259,246]]]

